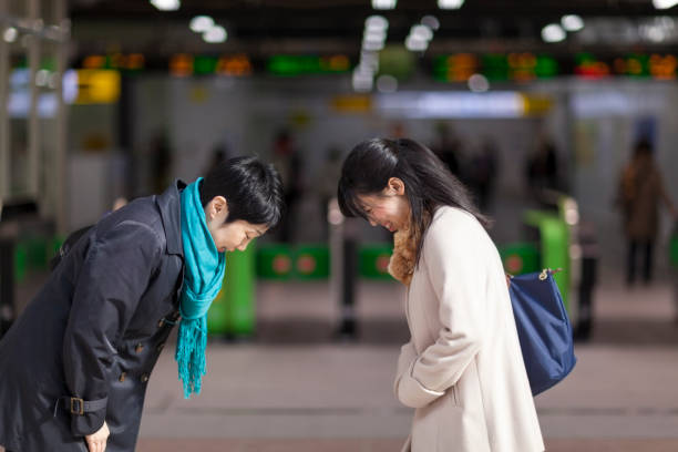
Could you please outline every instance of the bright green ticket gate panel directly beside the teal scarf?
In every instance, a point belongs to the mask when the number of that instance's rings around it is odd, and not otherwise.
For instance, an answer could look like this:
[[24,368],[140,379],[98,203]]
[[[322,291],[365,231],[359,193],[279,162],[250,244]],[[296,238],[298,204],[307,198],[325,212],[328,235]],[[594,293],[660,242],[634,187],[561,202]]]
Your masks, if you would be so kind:
[[207,312],[212,335],[251,336],[255,331],[255,256],[256,245],[245,251],[226,254],[226,275],[222,290]]

